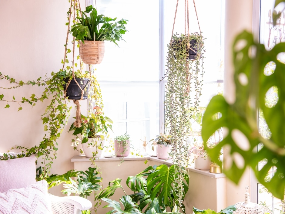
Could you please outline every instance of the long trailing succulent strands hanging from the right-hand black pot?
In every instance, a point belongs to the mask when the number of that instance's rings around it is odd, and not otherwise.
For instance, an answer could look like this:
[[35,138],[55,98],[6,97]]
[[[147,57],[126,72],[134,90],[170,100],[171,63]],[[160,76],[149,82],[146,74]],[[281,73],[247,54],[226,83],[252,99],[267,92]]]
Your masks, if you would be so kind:
[[[190,60],[190,41],[196,40],[196,59]],[[193,43],[193,41],[192,41]],[[192,47],[192,48],[191,48]],[[183,174],[189,163],[188,146],[185,143],[191,128],[190,119],[200,102],[203,81],[204,38],[202,34],[173,35],[168,45],[166,63],[165,128],[173,140],[171,156],[177,173],[176,192],[178,205],[182,207]]]

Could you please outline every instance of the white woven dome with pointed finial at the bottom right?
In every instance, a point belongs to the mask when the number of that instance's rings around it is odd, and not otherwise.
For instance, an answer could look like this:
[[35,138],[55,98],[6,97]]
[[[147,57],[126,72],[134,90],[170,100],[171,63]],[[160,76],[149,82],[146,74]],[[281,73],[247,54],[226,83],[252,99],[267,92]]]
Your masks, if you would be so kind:
[[247,192],[248,186],[246,186],[245,200],[244,202],[236,203],[236,210],[233,211],[233,214],[264,214],[270,213],[271,210],[265,206],[261,206],[257,203],[250,202],[250,195]]

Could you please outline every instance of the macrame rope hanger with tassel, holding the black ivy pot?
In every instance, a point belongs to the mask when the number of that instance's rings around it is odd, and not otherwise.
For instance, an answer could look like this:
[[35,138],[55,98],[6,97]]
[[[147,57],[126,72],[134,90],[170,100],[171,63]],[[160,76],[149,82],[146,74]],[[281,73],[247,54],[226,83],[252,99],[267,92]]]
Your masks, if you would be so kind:
[[[72,4],[74,2],[74,4]],[[73,11],[72,11],[72,5],[73,5]],[[66,54],[67,54],[67,43],[68,43],[68,36],[69,36],[69,29],[70,29],[70,22],[71,22],[71,14],[73,14],[73,23],[75,23],[75,14],[77,13],[77,10],[79,8],[79,11],[81,11],[81,8],[80,8],[80,3],[79,3],[79,0],[71,0],[70,1],[70,9],[69,9],[69,23],[68,23],[68,27],[67,27],[67,36],[66,36],[66,42],[65,42],[65,53],[64,53],[64,59],[63,59],[63,67],[62,67],[62,70],[64,70],[65,68],[65,60],[66,60]],[[80,12],[81,14],[81,12]],[[81,14],[82,16],[82,14]],[[72,79],[75,81],[75,83],[78,85],[78,87],[80,88],[81,90],[81,98],[79,100],[82,100],[83,99],[83,94],[84,94],[84,90],[86,89],[86,87],[84,89],[82,89],[79,85],[79,83],[76,81],[75,79],[75,74],[74,74],[74,52],[75,52],[75,37],[73,36],[73,40],[72,40],[72,53],[73,53],[73,56],[72,56]],[[80,63],[80,73],[82,73],[82,69],[81,69],[81,59],[79,58],[79,63]],[[89,73],[90,73],[90,76],[91,76],[91,71],[89,69]],[[71,79],[68,80],[67,84],[66,84],[66,88],[64,90],[64,97],[66,98],[66,90],[69,86],[71,82]],[[90,82],[88,83],[90,84]],[[79,100],[73,100],[73,103],[76,105],[76,116],[75,116],[75,122],[73,123],[73,125],[75,127],[81,127],[81,112],[80,112],[80,104],[79,104]]]

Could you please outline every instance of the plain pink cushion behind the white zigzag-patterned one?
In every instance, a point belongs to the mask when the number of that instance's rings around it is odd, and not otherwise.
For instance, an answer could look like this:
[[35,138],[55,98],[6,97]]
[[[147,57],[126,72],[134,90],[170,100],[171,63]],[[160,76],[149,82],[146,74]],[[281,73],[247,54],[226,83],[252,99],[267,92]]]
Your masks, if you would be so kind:
[[35,161],[35,155],[0,161],[0,192],[36,183]]

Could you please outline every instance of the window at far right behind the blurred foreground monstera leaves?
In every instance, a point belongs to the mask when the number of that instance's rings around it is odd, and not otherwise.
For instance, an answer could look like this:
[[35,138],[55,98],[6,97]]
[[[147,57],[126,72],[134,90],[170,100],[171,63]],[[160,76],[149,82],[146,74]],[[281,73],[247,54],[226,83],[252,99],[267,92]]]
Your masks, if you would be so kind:
[[[285,42],[285,34],[284,34],[284,15],[282,15],[281,20],[277,20],[277,23],[280,22],[281,25],[273,26],[273,20],[272,20],[272,13],[274,8],[274,2],[273,0],[261,0],[261,6],[260,6],[260,43],[264,44],[265,48],[267,50],[272,49],[277,43],[279,42]],[[280,61],[284,61],[285,55],[284,53],[280,53],[277,58],[280,59]],[[270,75],[274,68],[275,63],[270,62],[267,64],[266,68],[264,69],[265,75]],[[271,88],[267,92],[266,97],[266,105],[268,107],[274,105],[277,100],[277,93],[274,87]],[[264,121],[263,113],[260,111],[259,114],[259,132],[264,138],[270,138],[270,130]],[[261,147],[262,145],[260,145]],[[262,162],[259,164],[260,166],[263,165]],[[272,168],[268,172],[268,178],[270,178],[274,172],[276,171],[275,168]],[[282,201],[280,199],[277,199],[273,197],[273,195],[268,192],[268,190],[261,184],[257,182],[257,189],[258,189],[258,203],[264,206],[267,206],[270,210],[273,211],[274,214],[279,214],[284,212],[284,202],[282,204]]]

